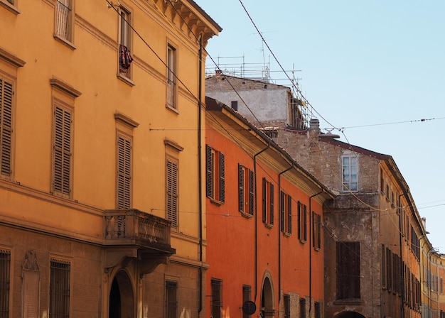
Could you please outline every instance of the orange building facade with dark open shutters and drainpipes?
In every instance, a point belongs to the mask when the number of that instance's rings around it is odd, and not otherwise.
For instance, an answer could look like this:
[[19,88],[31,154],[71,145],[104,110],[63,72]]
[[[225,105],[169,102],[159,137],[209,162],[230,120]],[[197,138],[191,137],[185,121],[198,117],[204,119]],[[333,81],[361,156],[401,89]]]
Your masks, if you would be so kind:
[[323,317],[331,192],[236,111],[206,102],[207,312]]

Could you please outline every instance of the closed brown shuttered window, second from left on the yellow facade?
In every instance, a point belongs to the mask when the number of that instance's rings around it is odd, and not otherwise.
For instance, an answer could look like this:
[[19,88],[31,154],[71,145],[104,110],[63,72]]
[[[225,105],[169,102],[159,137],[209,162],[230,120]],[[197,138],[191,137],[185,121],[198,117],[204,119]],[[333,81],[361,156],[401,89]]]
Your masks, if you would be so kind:
[[70,196],[71,183],[71,112],[60,106],[54,111],[54,180],[53,191]]

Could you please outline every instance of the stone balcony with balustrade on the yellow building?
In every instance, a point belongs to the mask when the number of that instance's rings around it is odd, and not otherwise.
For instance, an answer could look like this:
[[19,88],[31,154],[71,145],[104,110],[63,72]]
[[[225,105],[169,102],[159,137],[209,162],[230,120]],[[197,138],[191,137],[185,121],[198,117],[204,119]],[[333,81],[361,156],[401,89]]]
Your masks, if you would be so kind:
[[131,259],[141,261],[141,271],[149,273],[176,253],[170,246],[171,221],[137,209],[104,212],[106,267]]

